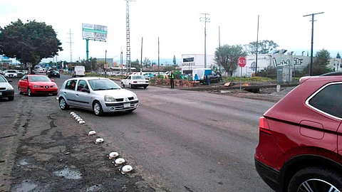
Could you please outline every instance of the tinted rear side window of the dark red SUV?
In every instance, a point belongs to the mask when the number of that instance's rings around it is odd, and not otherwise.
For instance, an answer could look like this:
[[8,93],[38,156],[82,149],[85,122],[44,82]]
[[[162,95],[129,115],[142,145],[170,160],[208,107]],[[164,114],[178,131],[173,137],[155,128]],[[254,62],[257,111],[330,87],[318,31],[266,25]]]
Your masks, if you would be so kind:
[[309,105],[327,114],[342,118],[342,83],[324,87],[309,100]]

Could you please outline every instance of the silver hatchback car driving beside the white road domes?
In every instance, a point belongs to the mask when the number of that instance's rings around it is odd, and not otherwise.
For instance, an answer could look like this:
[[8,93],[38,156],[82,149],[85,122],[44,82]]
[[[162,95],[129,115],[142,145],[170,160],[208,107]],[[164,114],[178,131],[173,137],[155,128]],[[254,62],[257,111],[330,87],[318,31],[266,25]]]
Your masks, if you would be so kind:
[[108,78],[72,78],[63,82],[58,95],[61,110],[78,107],[92,110],[95,115],[104,112],[133,112],[139,105],[137,95],[122,89]]

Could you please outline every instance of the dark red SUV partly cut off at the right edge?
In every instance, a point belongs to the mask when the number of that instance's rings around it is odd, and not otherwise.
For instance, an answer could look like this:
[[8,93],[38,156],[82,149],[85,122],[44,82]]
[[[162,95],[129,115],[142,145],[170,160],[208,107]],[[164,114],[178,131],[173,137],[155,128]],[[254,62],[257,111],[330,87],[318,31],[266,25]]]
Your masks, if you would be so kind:
[[259,119],[257,172],[275,191],[342,191],[342,76],[304,77]]

